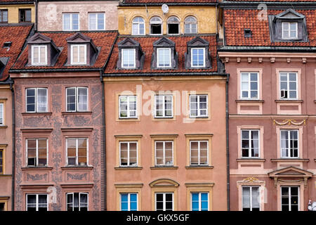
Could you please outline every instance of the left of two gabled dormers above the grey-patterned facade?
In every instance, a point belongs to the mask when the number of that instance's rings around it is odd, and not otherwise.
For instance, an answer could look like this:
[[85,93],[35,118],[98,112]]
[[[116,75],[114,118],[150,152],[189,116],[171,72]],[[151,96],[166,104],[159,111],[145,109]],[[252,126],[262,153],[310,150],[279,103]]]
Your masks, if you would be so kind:
[[55,65],[60,54],[60,49],[53,40],[44,34],[34,34],[27,39],[29,66],[52,66]]

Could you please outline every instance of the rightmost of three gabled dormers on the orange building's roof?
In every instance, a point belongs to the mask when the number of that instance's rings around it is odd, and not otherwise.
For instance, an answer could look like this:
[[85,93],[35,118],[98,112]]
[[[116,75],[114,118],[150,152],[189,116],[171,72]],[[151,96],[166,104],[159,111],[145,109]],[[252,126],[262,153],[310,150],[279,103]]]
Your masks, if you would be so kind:
[[201,37],[195,37],[187,42],[185,53],[186,69],[211,68],[211,57],[209,53],[209,42]]

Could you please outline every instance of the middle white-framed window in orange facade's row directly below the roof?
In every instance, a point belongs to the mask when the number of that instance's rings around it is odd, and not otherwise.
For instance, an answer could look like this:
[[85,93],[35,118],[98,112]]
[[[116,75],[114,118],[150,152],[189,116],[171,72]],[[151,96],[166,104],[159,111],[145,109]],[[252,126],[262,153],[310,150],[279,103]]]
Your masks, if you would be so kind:
[[154,96],[154,117],[173,117],[173,96]]

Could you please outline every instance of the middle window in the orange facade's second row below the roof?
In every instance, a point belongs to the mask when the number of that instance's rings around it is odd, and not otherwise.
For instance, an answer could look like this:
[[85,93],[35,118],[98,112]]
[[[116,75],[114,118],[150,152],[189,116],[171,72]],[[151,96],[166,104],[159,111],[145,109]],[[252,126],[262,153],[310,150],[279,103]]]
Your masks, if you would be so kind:
[[154,141],[155,165],[173,165],[173,141]]

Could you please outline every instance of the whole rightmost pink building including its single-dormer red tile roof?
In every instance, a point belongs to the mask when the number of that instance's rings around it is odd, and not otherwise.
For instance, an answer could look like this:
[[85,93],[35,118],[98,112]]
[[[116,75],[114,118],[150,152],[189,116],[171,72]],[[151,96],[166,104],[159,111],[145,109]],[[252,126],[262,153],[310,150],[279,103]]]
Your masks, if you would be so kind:
[[[246,4],[248,4],[246,6]],[[230,210],[315,201],[315,4],[223,2]]]

